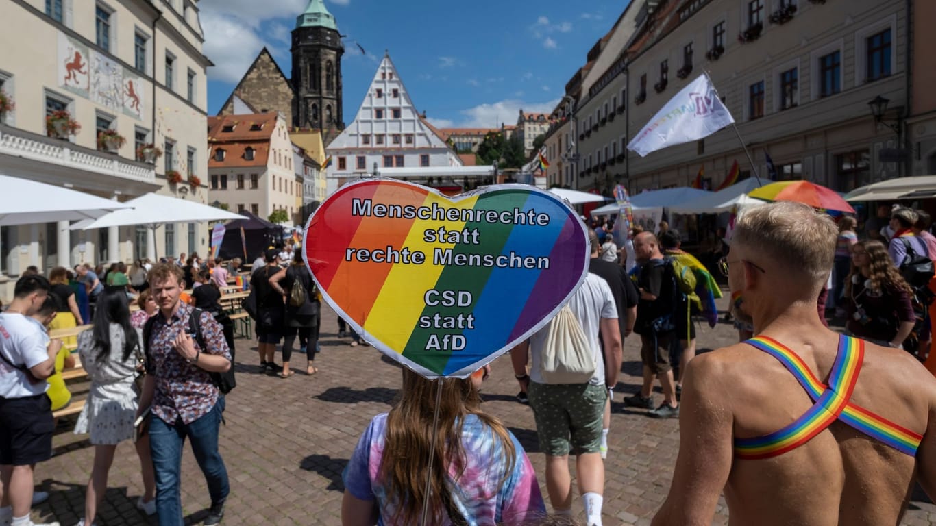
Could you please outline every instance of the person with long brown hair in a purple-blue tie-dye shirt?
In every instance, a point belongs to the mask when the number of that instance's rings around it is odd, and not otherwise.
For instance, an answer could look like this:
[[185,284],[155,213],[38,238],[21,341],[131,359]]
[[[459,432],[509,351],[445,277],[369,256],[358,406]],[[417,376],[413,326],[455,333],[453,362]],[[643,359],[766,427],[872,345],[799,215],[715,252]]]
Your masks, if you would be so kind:
[[[543,497],[530,460],[504,424],[481,409],[485,366],[470,378],[427,380],[402,368],[400,401],[373,417],[344,470],[344,526],[427,524],[516,526],[541,518]],[[436,389],[439,435],[431,448]],[[426,469],[430,452],[436,468]],[[426,478],[430,493],[426,495]]]

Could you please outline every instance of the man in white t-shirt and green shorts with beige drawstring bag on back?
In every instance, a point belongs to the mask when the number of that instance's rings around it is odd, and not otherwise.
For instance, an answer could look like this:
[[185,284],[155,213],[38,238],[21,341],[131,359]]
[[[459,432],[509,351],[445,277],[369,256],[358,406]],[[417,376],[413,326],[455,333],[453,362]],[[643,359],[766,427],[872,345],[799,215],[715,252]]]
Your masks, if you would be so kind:
[[[604,356],[598,344],[599,329]],[[585,524],[601,526],[605,492],[602,416],[607,388],[618,383],[622,360],[618,310],[607,282],[589,272],[563,310],[529,342],[514,347],[510,358],[534,410],[539,446],[546,453],[546,486],[553,510],[557,515],[572,515],[571,452],[576,455]]]

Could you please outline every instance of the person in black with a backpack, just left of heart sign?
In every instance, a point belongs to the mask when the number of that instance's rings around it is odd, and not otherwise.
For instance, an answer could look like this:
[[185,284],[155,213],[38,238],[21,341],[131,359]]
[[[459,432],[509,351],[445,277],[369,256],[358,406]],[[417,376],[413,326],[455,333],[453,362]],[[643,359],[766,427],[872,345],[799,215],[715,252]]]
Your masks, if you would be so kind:
[[[295,284],[302,290],[301,302],[297,303],[292,297]],[[293,344],[299,335],[300,345],[305,342],[306,368],[305,373],[313,375],[318,373],[313,365],[315,359],[315,345],[318,343],[319,314],[321,301],[318,300],[318,288],[312,279],[312,274],[305,267],[302,257],[293,257],[289,266],[273,274],[270,285],[278,294],[285,298],[285,324],[283,340],[283,371],[281,378],[292,376],[289,370],[289,358],[292,357]],[[298,299],[297,299],[298,300]]]

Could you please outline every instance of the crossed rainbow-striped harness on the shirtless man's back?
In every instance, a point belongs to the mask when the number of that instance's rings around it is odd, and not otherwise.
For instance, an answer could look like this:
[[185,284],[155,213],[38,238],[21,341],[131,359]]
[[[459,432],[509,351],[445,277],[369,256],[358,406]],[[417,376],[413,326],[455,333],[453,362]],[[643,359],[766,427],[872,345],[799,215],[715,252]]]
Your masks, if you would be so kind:
[[864,341],[844,335],[839,338],[839,352],[828,376],[828,386],[815,377],[802,358],[782,343],[766,336],[757,336],[745,343],[777,358],[793,373],[815,403],[803,416],[780,431],[756,438],[736,438],[735,456],[739,459],[767,459],[782,455],[806,444],[836,420],[911,457],[916,455],[922,435],[849,402],[865,357]]

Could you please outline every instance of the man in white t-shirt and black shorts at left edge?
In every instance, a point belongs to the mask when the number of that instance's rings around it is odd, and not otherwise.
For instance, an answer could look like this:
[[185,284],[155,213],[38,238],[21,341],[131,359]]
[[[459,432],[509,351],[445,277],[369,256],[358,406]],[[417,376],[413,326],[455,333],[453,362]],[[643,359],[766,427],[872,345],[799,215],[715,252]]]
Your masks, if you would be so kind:
[[50,290],[45,277],[23,276],[0,314],[0,525],[33,526],[33,467],[51,458],[55,425],[46,378],[55,373],[62,341],[47,346],[42,329],[28,317]]

